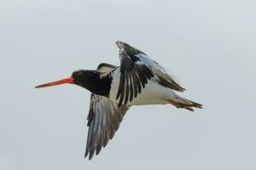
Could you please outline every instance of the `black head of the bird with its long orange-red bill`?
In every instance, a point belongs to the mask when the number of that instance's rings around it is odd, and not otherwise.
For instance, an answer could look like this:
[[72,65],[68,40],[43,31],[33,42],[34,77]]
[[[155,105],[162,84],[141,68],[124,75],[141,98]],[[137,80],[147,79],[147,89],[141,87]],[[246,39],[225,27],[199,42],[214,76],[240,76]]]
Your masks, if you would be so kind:
[[90,82],[90,79],[94,77],[95,74],[96,74],[96,71],[86,71],[86,70],[73,71],[71,77],[63,78],[55,82],[48,82],[45,84],[41,84],[36,86],[35,88],[47,88],[50,86],[56,86],[56,85],[61,85],[66,83],[76,84],[81,87],[84,87],[84,85],[86,85],[87,82]]

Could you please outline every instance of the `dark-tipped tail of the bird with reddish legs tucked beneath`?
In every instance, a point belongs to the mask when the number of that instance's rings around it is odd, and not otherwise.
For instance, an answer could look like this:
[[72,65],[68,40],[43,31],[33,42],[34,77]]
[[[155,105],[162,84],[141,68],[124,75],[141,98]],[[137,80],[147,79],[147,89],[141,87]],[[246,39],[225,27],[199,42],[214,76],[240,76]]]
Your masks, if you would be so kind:
[[183,108],[189,111],[194,111],[192,109],[192,107],[197,107],[202,109],[203,105],[199,104],[199,103],[195,103],[194,101],[191,101],[189,99],[185,99],[183,97],[180,97],[178,95],[175,96],[175,99],[167,99],[167,101],[172,104],[175,105],[177,108]]

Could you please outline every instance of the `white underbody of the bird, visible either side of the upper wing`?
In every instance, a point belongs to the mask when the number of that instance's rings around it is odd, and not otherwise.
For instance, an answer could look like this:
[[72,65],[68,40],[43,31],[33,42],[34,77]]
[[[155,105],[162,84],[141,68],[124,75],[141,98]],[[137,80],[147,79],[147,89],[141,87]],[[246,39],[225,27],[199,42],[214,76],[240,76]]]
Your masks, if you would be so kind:
[[[116,99],[119,89],[119,71],[113,74],[113,83],[109,94],[109,99],[115,103],[119,103]],[[169,104],[167,99],[174,98],[176,94],[169,88],[165,88],[154,81],[148,81],[141,94],[137,94],[137,98],[129,101],[127,105],[165,105]]]

